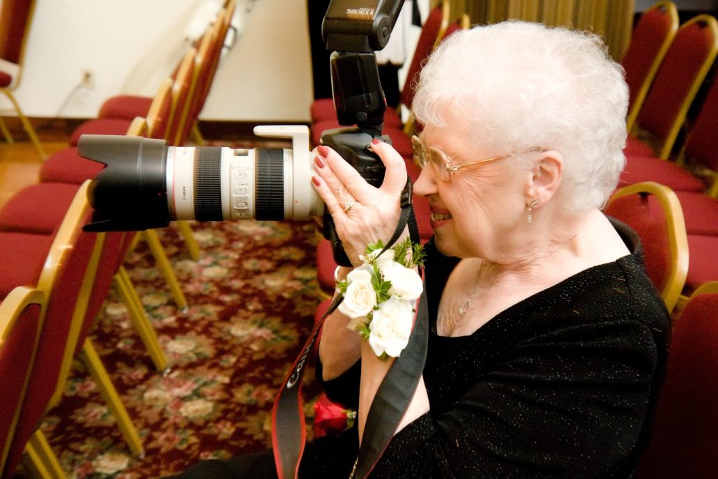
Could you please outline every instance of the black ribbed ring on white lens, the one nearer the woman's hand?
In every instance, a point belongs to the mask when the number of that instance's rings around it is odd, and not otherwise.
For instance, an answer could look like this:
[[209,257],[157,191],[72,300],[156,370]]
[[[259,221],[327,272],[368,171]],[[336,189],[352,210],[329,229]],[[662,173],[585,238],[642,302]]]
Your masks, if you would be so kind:
[[257,148],[254,217],[284,219],[284,149]]

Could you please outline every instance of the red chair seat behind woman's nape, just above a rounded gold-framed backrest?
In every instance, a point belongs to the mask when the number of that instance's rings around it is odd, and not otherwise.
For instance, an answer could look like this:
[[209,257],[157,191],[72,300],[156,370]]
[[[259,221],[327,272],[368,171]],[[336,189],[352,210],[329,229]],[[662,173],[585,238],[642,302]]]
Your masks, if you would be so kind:
[[656,157],[627,157],[621,172],[618,187],[635,185],[644,181],[655,181],[673,191],[702,192],[706,185],[698,177],[678,164]]

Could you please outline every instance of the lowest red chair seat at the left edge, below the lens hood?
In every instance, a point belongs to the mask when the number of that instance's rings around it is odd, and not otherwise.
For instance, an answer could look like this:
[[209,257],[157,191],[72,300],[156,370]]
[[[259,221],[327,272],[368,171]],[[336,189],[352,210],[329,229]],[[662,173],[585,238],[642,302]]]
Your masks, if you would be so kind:
[[34,287],[52,245],[52,235],[0,231],[0,298],[15,287]]

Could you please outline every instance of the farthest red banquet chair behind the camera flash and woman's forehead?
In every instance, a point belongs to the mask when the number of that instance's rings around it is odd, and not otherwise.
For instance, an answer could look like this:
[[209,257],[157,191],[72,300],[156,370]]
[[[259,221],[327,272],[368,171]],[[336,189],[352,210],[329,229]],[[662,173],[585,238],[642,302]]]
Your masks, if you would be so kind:
[[[409,68],[406,74],[404,88],[401,90],[400,105],[397,110],[387,110],[384,114],[384,124],[386,126],[396,126],[401,128],[404,121],[401,120],[401,108],[408,108],[411,111],[411,101],[414,99],[414,78],[419,73],[421,67],[424,66],[426,58],[434,50],[439,42],[441,42],[449,26],[449,18],[451,16],[451,7],[449,1],[442,1],[435,6],[424,21],[421,27],[421,34],[416,43],[414,55],[411,57]],[[312,102],[310,107],[310,117],[312,124],[323,121],[337,121],[337,111],[334,106],[333,98],[317,98]],[[327,129],[329,127],[325,127]],[[336,127],[333,127],[336,128]]]

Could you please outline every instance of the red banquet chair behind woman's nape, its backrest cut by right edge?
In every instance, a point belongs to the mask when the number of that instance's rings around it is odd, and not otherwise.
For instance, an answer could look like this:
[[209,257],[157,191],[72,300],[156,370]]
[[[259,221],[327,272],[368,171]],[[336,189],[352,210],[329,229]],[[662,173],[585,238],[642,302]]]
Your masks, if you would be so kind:
[[[643,181],[655,181],[675,191],[679,198],[682,192],[708,192],[718,197],[718,76],[709,85],[700,111],[697,114],[686,140],[679,150],[676,161],[663,161],[654,156],[630,155],[621,172],[619,185],[632,185]],[[686,215],[686,226],[694,208],[686,199],[681,205]],[[701,201],[701,200],[698,200]],[[689,228],[690,229],[690,228]]]

